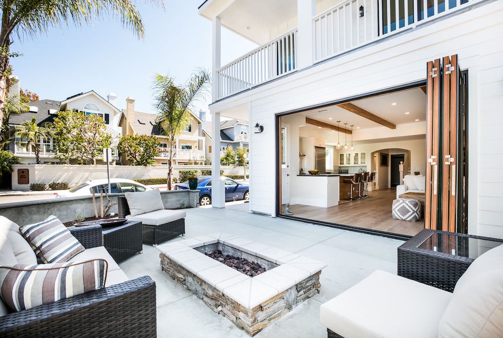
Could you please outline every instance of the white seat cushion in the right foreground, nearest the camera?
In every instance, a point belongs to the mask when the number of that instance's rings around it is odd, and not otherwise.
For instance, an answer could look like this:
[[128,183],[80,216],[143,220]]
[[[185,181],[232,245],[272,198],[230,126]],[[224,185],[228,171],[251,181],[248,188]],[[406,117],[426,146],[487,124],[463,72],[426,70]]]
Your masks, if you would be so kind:
[[451,293],[377,270],[320,307],[345,338],[436,338]]

